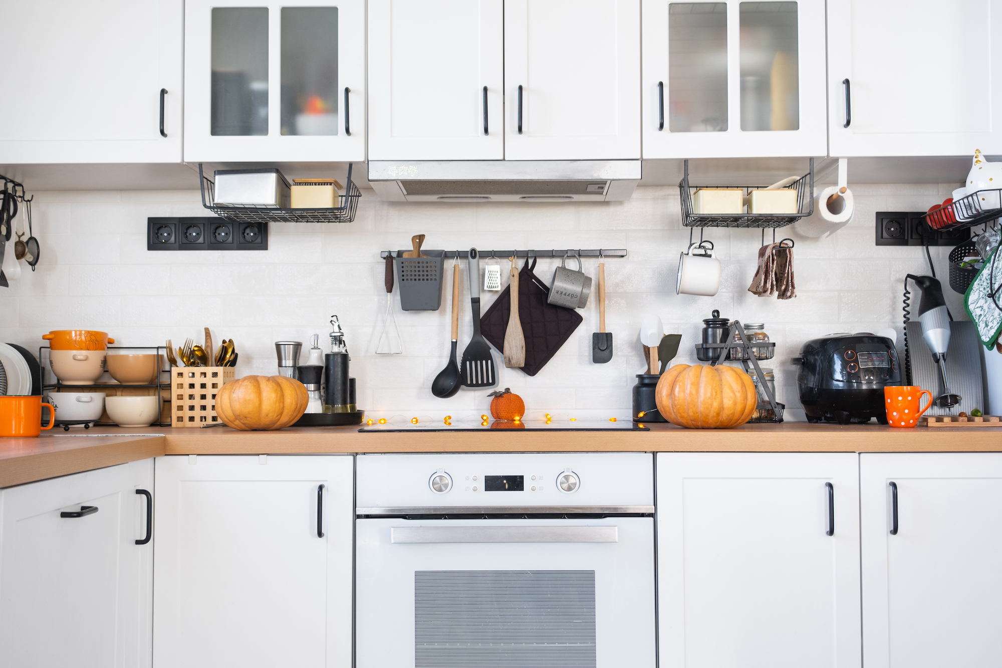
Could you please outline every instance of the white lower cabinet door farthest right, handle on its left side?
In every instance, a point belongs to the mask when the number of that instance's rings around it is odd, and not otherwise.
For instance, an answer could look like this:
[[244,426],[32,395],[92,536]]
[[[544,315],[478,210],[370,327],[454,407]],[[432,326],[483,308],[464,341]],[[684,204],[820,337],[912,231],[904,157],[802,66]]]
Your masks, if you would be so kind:
[[1002,453],[860,456],[867,668],[1002,665]]

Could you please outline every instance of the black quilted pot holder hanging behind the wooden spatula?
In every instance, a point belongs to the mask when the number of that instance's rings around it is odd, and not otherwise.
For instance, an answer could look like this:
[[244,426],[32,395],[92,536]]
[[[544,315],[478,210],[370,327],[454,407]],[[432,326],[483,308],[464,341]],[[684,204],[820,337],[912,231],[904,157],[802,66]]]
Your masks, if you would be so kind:
[[[530,376],[539,373],[581,324],[577,311],[546,303],[550,289],[532,273],[535,268],[536,259],[532,258],[530,266],[526,258],[525,266],[518,275],[518,317],[525,336],[525,366],[522,371]],[[506,287],[480,319],[480,331],[484,338],[501,351],[504,350],[504,333],[511,315],[510,291],[511,286]]]

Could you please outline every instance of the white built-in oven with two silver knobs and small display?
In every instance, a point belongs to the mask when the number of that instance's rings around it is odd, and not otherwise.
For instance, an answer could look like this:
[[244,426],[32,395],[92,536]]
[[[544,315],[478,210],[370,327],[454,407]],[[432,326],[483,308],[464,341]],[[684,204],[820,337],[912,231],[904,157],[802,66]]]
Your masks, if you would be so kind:
[[358,668],[653,668],[650,454],[357,461]]

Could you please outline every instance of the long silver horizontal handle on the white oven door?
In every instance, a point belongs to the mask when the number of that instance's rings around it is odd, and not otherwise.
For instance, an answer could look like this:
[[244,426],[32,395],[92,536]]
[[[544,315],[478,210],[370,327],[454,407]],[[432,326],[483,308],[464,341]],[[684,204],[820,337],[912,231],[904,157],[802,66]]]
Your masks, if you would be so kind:
[[393,527],[391,543],[618,543],[617,527]]

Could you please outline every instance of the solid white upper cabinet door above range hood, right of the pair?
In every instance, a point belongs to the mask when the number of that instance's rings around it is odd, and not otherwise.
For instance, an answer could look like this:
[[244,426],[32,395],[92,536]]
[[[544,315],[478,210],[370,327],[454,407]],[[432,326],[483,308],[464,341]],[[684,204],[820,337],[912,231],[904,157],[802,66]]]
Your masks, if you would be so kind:
[[639,0],[506,0],[505,158],[640,157]]

